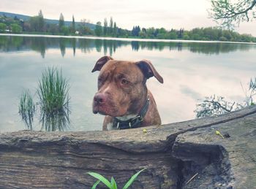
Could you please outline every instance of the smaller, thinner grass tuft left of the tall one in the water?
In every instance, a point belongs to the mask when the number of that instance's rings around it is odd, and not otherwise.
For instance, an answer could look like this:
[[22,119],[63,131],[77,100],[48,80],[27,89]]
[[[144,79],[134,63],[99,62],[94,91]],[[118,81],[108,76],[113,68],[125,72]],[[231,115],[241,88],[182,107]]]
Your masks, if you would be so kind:
[[23,91],[22,95],[20,96],[19,115],[26,123],[26,126],[29,128],[29,130],[32,130],[32,122],[35,111],[36,108],[30,91]]

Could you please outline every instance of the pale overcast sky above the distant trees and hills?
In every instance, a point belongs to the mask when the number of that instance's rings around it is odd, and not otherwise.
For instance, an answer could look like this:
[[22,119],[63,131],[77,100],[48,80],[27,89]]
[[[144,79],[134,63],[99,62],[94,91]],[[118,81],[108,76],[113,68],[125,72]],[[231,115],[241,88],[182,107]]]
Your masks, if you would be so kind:
[[[42,9],[44,18],[59,20],[62,12],[65,20],[91,23],[113,17],[118,27],[132,29],[132,26],[155,28],[184,28],[217,26],[208,18],[210,0],[0,0],[1,12],[23,15],[37,15]],[[256,20],[241,23],[236,31],[256,36]]]

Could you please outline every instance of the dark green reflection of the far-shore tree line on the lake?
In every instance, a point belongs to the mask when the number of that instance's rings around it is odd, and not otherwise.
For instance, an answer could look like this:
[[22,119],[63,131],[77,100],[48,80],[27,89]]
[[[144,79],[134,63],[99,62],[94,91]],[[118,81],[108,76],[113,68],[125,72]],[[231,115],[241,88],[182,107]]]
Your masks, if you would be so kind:
[[73,55],[78,48],[83,53],[90,53],[96,48],[98,53],[113,55],[119,47],[130,46],[132,50],[189,50],[192,53],[219,54],[229,53],[236,50],[249,50],[256,45],[234,44],[234,43],[197,43],[197,42],[138,42],[138,41],[116,41],[102,39],[77,39],[77,38],[48,38],[33,36],[0,36],[0,52],[11,52],[18,50],[34,50],[45,58],[46,50],[59,48],[64,57],[66,48],[72,48]]

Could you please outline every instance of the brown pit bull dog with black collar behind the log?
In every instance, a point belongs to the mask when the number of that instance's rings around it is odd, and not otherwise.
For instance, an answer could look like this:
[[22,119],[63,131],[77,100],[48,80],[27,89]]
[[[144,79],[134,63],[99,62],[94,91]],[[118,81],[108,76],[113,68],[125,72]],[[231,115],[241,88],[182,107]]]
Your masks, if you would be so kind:
[[164,81],[150,61],[116,61],[103,56],[91,72],[95,71],[100,72],[93,112],[106,115],[103,130],[161,125],[146,80],[154,76],[159,82]]

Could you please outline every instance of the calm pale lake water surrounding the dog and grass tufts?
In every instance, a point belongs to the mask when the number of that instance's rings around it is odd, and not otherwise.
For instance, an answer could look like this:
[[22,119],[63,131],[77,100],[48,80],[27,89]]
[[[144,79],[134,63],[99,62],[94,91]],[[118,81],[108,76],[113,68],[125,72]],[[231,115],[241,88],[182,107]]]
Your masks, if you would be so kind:
[[[98,72],[91,69],[103,55],[154,64],[164,84],[151,77],[147,85],[163,124],[194,119],[196,104],[205,96],[244,101],[241,84],[245,90],[256,76],[255,44],[0,36],[0,132],[26,129],[18,115],[20,95],[28,88],[37,101],[38,80],[48,66],[62,69],[69,79],[71,114],[65,131],[101,130],[104,117],[91,107]],[[41,128],[39,115],[33,128]]]

